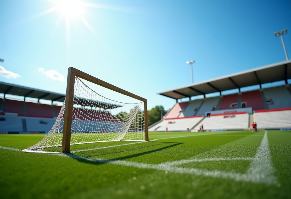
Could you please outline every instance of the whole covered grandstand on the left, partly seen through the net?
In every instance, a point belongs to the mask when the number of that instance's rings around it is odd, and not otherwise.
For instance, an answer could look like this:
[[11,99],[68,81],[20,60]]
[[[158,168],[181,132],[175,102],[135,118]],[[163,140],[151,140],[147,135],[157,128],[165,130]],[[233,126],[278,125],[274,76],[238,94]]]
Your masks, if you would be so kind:
[[[0,97],[0,117],[5,118],[5,120],[0,121],[0,134],[49,132],[56,122],[62,107],[54,104],[54,102],[64,102],[65,100],[65,94],[6,82],[0,82],[0,93],[3,94],[3,97]],[[9,98],[7,95],[10,95]],[[28,100],[27,97],[34,98],[35,101]],[[49,100],[51,103],[40,103],[40,99]],[[114,127],[113,129],[121,128],[119,121],[108,111],[109,109],[118,108],[120,105],[81,97],[74,97],[74,104],[76,107],[73,108],[73,111],[78,113],[79,118],[75,118],[76,114],[73,115],[73,127],[77,122],[84,121],[89,122],[92,126],[79,131],[104,132],[108,131],[109,126]],[[90,109],[90,114],[94,117],[88,118],[83,113],[85,109]],[[93,120],[92,118],[95,119]],[[102,129],[97,127],[102,127]]]

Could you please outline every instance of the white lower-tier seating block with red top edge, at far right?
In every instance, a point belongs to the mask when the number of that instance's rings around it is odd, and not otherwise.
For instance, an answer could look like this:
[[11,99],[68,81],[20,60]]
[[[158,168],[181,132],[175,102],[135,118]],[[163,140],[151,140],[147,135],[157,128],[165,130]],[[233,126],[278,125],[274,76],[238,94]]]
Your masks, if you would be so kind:
[[291,108],[257,110],[253,114],[258,129],[291,128],[290,118]]

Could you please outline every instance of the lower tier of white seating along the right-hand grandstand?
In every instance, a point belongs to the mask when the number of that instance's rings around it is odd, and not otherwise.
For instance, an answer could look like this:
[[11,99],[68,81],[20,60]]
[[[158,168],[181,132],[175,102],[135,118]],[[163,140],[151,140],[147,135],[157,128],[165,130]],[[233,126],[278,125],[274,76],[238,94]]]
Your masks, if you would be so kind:
[[[267,110],[263,110],[267,111]],[[291,128],[291,108],[288,110],[269,110],[268,112],[258,112],[253,114],[253,121],[257,123],[258,129],[279,129]],[[246,130],[250,128],[250,115],[248,113],[237,113],[225,115],[217,114],[210,117],[188,117],[164,119],[161,122],[151,126],[150,132],[168,131],[186,131],[189,128],[192,131],[199,131],[203,124],[205,131],[211,130]]]

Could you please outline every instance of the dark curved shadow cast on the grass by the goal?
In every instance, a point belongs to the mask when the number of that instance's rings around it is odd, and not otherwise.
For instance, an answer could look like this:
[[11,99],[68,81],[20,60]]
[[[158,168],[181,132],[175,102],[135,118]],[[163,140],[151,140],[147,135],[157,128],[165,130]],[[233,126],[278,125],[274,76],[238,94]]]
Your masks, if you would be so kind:
[[[163,143],[165,143],[165,142],[163,142]],[[170,142],[170,143],[173,143],[173,142]],[[124,156],[124,157],[115,158],[115,159],[96,159],[96,158],[91,158],[91,156],[83,157],[83,156],[78,156],[78,155],[75,155],[75,154],[72,154],[72,153],[65,153],[64,155],[68,156],[70,158],[76,159],[77,161],[82,162],[82,163],[99,165],[99,164],[112,163],[112,162],[115,162],[115,161],[123,161],[123,160],[130,159],[130,158],[133,158],[133,157],[139,157],[141,155],[150,154],[150,153],[153,153],[153,152],[157,152],[157,151],[165,150],[165,149],[168,149],[168,148],[172,148],[172,147],[178,146],[180,144],[183,144],[183,143],[173,143],[171,145],[168,145],[168,146],[165,146],[165,147],[162,147],[162,148],[153,149],[153,150],[150,150],[150,151],[140,152],[140,153],[136,153],[136,154],[131,154],[131,155],[127,155],[127,156]],[[146,148],[146,147],[143,147],[143,148]]]

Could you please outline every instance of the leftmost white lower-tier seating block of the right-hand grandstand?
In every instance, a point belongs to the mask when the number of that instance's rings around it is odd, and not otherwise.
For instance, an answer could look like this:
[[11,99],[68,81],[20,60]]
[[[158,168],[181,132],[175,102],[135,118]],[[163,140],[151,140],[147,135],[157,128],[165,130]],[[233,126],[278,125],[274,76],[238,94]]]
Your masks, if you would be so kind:
[[203,119],[203,116],[194,116],[187,118],[169,118],[163,120],[159,124],[151,127],[148,131],[166,131],[166,127],[168,127],[168,131],[187,131],[187,127],[192,129],[200,120]]

